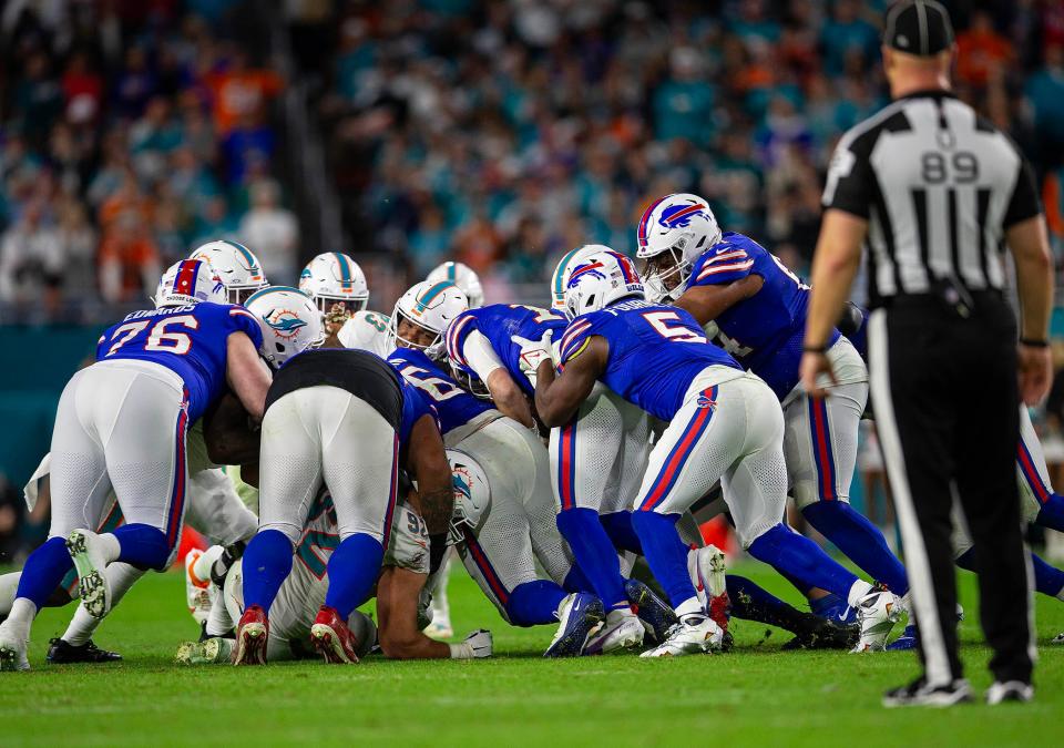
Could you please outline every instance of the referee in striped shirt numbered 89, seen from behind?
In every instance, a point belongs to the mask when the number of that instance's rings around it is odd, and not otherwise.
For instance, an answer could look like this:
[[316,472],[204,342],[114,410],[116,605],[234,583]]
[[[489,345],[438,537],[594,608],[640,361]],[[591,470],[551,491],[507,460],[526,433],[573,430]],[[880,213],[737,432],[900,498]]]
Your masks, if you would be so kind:
[[[958,656],[954,492],[975,544],[980,618],[993,649],[986,700],[1033,695],[1015,455],[1020,399],[1037,402],[1050,383],[1052,265],[1030,167],[950,93],[955,49],[938,2],[888,10],[882,51],[893,102],[846,133],[828,171],[801,361],[805,387],[823,396],[825,344],[867,244],[872,404],[924,667],[888,691],[886,706],[972,698]],[[1019,283],[1019,345],[1002,294],[1004,244]]]

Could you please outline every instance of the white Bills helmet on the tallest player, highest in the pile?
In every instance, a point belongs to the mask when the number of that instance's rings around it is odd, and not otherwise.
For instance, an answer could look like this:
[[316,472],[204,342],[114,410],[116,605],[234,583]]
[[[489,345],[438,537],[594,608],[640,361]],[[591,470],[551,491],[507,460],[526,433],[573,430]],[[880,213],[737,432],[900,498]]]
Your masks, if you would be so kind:
[[640,268],[647,297],[675,301],[687,288],[690,268],[709,247],[720,242],[720,226],[709,203],[698,195],[678,193],[651,203],[640,219]]

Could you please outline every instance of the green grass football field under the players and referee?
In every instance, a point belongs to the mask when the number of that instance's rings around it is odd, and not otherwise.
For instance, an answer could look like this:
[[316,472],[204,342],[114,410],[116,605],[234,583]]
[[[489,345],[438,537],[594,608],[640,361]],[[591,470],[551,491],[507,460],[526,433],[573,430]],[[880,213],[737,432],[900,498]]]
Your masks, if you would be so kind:
[[[763,568],[740,566],[794,601]],[[974,577],[960,578],[964,660],[981,694],[988,650],[976,644]],[[915,675],[912,653],[779,652],[785,632],[766,638],[766,626],[736,622],[726,655],[544,660],[551,628],[504,624],[460,567],[450,596],[456,629],[490,628],[494,658],[183,668],[172,664],[176,645],[197,634],[183,578],[150,574],[96,637],[122,663],[47,665],[71,608],[38,618],[33,670],[0,677],[0,746],[1064,745],[1064,647],[1047,644],[1064,631],[1064,603],[1044,596],[1035,701],[947,710],[880,707],[883,689]]]

